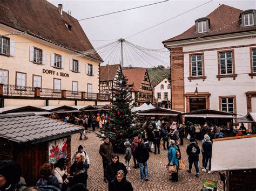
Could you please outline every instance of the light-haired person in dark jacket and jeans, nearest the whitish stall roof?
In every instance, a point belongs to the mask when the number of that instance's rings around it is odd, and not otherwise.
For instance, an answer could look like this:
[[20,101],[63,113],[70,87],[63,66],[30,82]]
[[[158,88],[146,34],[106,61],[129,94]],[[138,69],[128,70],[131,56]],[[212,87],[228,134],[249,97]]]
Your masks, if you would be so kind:
[[209,136],[206,136],[205,142],[203,144],[204,153],[205,153],[205,162],[204,162],[204,168],[202,171],[207,172],[207,163],[209,161],[209,171],[208,174],[211,174],[211,165],[212,165],[212,142],[210,140]]

